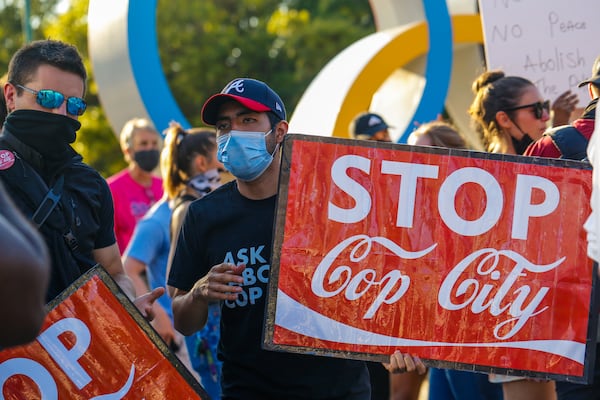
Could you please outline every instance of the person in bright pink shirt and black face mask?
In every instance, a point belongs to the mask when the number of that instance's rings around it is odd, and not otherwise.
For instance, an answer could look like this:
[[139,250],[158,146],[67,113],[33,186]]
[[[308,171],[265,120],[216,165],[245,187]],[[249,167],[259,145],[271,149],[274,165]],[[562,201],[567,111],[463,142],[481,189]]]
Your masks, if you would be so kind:
[[115,235],[121,254],[146,211],[163,195],[158,166],[162,139],[150,121],[134,118],[123,126],[121,150],[128,166],[107,179],[115,208]]

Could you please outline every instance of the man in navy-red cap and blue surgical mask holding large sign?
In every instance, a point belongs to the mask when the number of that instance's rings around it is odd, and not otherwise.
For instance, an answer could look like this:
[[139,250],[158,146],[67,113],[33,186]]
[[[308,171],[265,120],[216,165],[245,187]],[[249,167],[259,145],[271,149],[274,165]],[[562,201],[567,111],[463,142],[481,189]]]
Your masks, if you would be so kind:
[[[265,83],[231,81],[202,108],[217,131],[218,157],[236,177],[191,204],[169,276],[175,327],[191,334],[222,301],[219,356],[224,399],[369,399],[363,362],[261,348],[280,160],[288,123]],[[396,353],[388,366],[424,371]]]

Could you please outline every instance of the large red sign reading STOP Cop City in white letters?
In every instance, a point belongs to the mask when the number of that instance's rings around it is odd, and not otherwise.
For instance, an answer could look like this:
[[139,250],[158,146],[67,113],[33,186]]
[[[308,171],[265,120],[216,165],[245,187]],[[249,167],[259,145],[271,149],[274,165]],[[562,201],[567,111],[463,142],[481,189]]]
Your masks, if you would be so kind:
[[585,164],[290,135],[282,171],[267,348],[587,380]]

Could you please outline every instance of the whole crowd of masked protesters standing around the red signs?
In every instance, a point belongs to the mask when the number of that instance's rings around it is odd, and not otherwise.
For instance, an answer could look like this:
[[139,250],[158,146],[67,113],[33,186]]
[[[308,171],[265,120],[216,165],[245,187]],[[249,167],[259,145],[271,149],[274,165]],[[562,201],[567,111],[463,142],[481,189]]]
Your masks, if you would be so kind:
[[[87,107],[86,83],[77,49],[60,41],[27,44],[9,64],[0,134],[0,316],[11,324],[0,332],[0,347],[33,340],[44,304],[101,265],[211,398],[417,400],[426,372],[429,400],[600,398],[598,366],[594,382],[583,385],[427,369],[398,351],[389,362],[365,363],[263,349],[264,269],[288,133],[284,102],[266,83],[236,78],[204,103],[210,128],[174,122],[161,133],[132,116],[120,133],[127,168],[105,180],[71,146]],[[593,165],[600,57],[585,85],[591,101],[572,121],[573,93],[550,104],[529,80],[486,71],[473,82],[468,112],[488,152]],[[349,134],[392,142],[390,128],[365,111]],[[448,121],[425,121],[408,144],[470,149]],[[595,261],[597,174],[585,225]],[[252,259],[236,256],[250,251]],[[248,291],[262,295],[238,301]]]

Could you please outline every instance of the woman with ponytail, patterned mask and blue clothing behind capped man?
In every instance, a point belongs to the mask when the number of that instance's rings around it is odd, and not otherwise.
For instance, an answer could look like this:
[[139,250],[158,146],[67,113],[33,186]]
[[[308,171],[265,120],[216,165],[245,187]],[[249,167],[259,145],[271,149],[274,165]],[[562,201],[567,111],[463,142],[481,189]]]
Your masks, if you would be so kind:
[[[165,135],[160,157],[164,196],[138,222],[123,255],[125,271],[138,293],[147,292],[148,284],[152,288],[166,285],[171,243],[175,243],[177,226],[187,204],[220,185],[217,168],[221,164],[217,161],[214,132],[200,128],[185,131],[173,123]],[[218,306],[213,307],[214,315],[205,330],[190,337],[184,338],[175,331],[169,296],[162,296],[155,303],[156,318],[152,322],[171,350],[195,372],[206,392],[215,399],[220,398],[220,366],[216,360]]]

